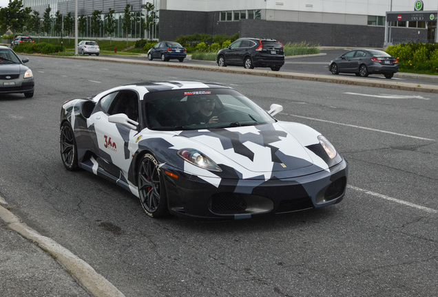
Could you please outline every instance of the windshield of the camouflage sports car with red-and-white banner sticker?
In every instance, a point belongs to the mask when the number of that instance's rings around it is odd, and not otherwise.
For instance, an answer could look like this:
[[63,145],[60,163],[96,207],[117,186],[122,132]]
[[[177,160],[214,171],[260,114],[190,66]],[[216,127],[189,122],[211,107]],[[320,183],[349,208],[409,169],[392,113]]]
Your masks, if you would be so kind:
[[183,89],[145,95],[152,130],[198,130],[267,124],[275,120],[233,89]]

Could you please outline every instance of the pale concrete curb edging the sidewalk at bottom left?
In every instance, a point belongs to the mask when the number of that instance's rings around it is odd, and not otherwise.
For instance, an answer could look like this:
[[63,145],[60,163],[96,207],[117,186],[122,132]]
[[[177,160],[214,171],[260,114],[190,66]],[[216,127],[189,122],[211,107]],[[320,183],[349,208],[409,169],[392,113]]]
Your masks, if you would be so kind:
[[[2,203],[3,198],[0,197]],[[52,239],[43,236],[30,228],[16,217],[12,212],[0,206],[0,219],[5,221],[8,228],[18,232],[25,239],[33,241],[41,250],[48,252],[56,261],[61,263],[76,281],[92,296],[102,297],[124,297],[112,283],[107,281],[101,274],[98,274],[88,263],[75,256],[70,250],[63,248]]]

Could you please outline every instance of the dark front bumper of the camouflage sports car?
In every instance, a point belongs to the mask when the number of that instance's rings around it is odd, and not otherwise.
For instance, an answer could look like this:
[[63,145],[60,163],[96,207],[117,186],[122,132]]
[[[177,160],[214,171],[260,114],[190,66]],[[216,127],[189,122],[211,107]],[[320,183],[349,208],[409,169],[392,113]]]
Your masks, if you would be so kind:
[[163,175],[169,211],[197,219],[249,219],[329,206],[344,198],[348,174],[342,159],[330,171],[267,181],[222,179],[216,188],[194,175],[162,169],[178,175]]

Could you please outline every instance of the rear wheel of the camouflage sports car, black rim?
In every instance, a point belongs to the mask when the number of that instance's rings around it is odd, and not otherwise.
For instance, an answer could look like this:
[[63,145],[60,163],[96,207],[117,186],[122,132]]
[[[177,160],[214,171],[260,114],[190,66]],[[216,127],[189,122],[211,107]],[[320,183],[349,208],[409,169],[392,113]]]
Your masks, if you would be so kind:
[[74,171],[78,168],[78,151],[72,125],[64,122],[59,133],[59,151],[64,167]]

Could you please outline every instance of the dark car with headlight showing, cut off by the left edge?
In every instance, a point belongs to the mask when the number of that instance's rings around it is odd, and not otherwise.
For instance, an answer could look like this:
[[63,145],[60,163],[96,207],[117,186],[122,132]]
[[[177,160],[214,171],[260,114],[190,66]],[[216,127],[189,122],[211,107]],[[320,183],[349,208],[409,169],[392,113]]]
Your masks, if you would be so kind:
[[0,46],[0,94],[23,93],[26,98],[34,96],[34,76],[25,66],[28,58],[20,60],[13,50]]

